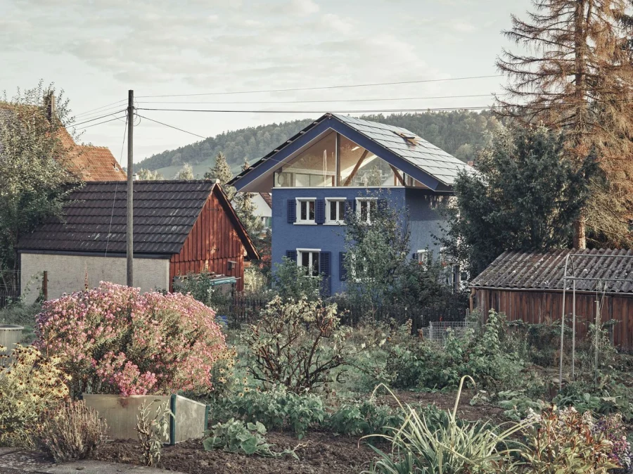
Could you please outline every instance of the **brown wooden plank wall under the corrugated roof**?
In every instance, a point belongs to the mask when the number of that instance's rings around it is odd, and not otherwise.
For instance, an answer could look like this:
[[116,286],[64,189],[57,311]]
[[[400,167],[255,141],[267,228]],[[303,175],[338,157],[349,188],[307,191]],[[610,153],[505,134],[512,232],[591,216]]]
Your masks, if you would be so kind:
[[[476,288],[474,307],[484,315],[490,309],[504,312],[509,320],[522,319],[530,324],[549,323],[561,319],[563,293],[552,291],[520,291]],[[618,321],[613,327],[613,343],[633,349],[633,297],[576,293],[576,331],[578,338],[587,335],[589,321],[596,319],[596,299],[601,301],[601,320]],[[565,293],[565,313],[572,314],[573,294]]]

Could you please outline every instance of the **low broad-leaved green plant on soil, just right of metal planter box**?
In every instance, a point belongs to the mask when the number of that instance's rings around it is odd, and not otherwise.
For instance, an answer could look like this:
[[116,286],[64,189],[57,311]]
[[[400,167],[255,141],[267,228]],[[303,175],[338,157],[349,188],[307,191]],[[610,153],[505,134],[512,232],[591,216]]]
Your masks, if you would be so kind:
[[207,431],[209,436],[203,440],[205,451],[222,448],[224,451],[239,454],[258,454],[260,456],[280,457],[290,454],[299,459],[294,449],[286,449],[281,452],[272,451],[274,444],[266,442],[264,435],[266,427],[259,421],[246,423],[231,418],[226,423],[217,423]]

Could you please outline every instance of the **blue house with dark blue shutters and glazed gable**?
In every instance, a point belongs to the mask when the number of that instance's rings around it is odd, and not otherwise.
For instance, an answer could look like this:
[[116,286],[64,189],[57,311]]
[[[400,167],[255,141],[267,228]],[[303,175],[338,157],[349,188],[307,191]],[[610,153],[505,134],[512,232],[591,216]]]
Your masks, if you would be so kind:
[[272,194],[272,263],[296,260],[326,278],[326,292],[338,293],[345,288],[346,209],[371,222],[380,195],[409,219],[411,257],[437,255],[437,204],[468,168],[407,129],[328,113],[231,185]]

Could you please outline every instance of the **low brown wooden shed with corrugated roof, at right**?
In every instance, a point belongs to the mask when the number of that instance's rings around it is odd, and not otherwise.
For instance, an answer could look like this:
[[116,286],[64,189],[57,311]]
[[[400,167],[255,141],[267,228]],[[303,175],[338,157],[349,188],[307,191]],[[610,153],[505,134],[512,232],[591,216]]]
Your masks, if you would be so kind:
[[560,320],[565,261],[565,314],[572,315],[575,303],[577,337],[595,321],[597,301],[601,321],[615,321],[613,343],[633,349],[632,250],[504,252],[471,281],[471,309],[484,315],[494,309],[531,324]]

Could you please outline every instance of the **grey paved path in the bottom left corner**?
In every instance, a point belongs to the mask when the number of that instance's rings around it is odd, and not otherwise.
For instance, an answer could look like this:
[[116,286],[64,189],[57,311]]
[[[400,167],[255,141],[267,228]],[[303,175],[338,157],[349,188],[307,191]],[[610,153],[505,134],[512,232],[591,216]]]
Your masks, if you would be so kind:
[[106,461],[73,461],[56,464],[37,451],[0,448],[0,474],[179,474],[175,471]]

